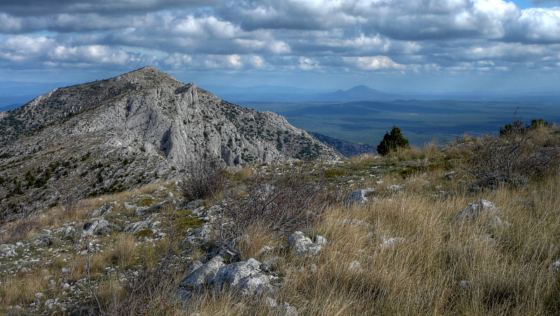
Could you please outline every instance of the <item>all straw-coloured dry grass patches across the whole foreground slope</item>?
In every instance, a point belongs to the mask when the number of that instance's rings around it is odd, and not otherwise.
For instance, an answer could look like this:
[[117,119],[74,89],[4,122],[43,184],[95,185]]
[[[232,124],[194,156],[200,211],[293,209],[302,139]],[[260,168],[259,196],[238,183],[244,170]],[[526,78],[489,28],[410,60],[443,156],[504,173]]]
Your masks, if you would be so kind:
[[[531,139],[542,142],[542,146],[558,142],[551,129],[537,128],[531,132],[534,133]],[[479,142],[469,137],[463,140]],[[420,159],[426,161],[423,165],[437,164],[450,159],[449,156],[461,157],[469,146],[455,144],[442,153],[431,143],[423,149],[407,149],[393,155],[399,161]],[[372,163],[379,161],[384,160],[362,156],[337,168],[345,172],[371,170]],[[376,188],[373,195],[377,200],[351,207],[341,202],[330,203],[321,219],[306,231],[309,236],[323,235],[328,240],[328,245],[314,258],[297,258],[287,250],[261,254],[263,246],[289,247],[286,235],[264,231],[258,226],[244,231],[247,237],[237,243],[237,250],[243,260],[284,257],[276,267],[283,287],[274,298],[297,307],[300,315],[559,315],[560,278],[550,271],[552,262],[560,258],[559,170],[532,179],[528,188],[500,186],[493,191],[475,193],[467,192],[469,179],[461,170],[454,179],[443,177],[447,171],[446,167],[418,170],[406,179],[397,171],[387,172],[382,177],[383,184],[375,184],[377,177],[366,177],[359,185]],[[252,177],[249,168],[239,173],[235,174],[237,181]],[[389,191],[386,186],[391,184],[403,184],[405,188]],[[132,199],[132,195],[140,199],[138,195],[153,193],[157,186],[109,195],[103,201],[85,200],[76,214],[63,215],[60,210],[52,209],[49,214],[59,214],[59,218],[41,219],[41,224],[80,221],[104,202],[116,200],[118,205],[123,205],[124,199]],[[235,194],[232,196],[237,198]],[[481,198],[498,207],[496,214],[456,219],[459,210]],[[509,224],[491,227],[488,222],[493,216]],[[169,208],[164,209],[162,218],[169,229],[180,219]],[[494,241],[489,242],[485,235]],[[379,247],[381,236],[404,238],[405,242],[383,248]],[[174,267],[161,274],[165,275],[165,282],[149,277],[161,268],[158,263],[162,259],[181,252],[178,240],[164,238],[155,242],[154,247],[151,242],[138,245],[139,240],[129,233],[111,235],[111,238],[105,240],[108,244],[105,252],[92,256],[91,266],[92,276],[97,277],[99,284],[99,298],[109,314],[276,314],[267,307],[264,298],[243,298],[211,288],[181,307],[172,294],[185,276],[183,268]],[[172,248],[170,252],[168,246]],[[189,255],[195,260],[204,251],[207,249],[195,247]],[[69,282],[83,279],[87,273],[85,257],[68,256],[68,261],[53,261],[50,268],[34,270],[25,277],[1,276],[0,312],[6,312],[8,305],[29,305],[34,293],[47,291],[45,275],[56,275],[62,266],[69,269],[66,275]],[[359,268],[351,268],[355,261],[359,261]],[[124,274],[102,277],[103,268],[116,266],[139,271],[136,285],[143,285],[131,292],[118,281]],[[461,286],[464,284],[461,281],[468,281],[468,286]]]

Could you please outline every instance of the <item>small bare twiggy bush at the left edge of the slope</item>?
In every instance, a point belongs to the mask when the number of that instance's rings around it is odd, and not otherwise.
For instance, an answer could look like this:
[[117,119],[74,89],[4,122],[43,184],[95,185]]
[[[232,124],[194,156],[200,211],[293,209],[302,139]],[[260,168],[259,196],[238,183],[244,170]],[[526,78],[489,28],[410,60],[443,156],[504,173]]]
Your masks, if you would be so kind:
[[0,231],[0,244],[14,243],[27,236],[34,228],[38,228],[38,219],[34,208],[28,200],[16,202],[15,217],[11,221],[4,221]]

